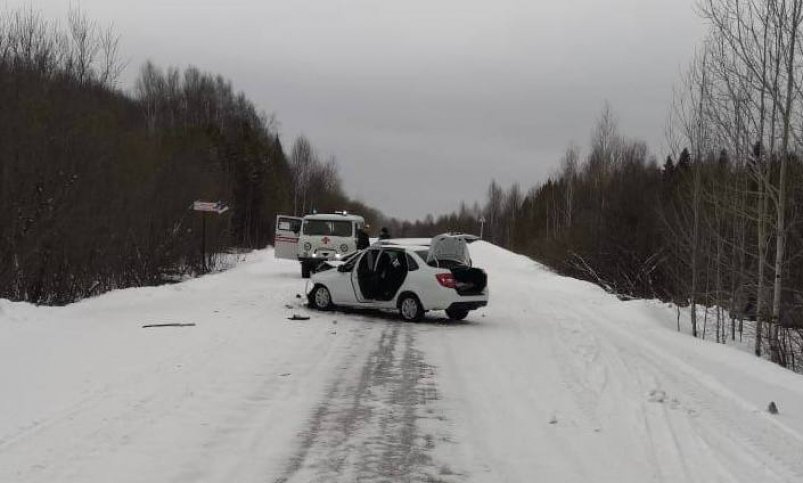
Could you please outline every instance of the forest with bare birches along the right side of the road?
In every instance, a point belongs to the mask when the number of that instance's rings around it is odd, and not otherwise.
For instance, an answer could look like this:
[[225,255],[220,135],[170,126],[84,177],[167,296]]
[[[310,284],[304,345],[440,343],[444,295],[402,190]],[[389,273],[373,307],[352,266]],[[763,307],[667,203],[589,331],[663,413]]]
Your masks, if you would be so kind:
[[[668,106],[660,163],[605,109],[584,152],[545,183],[492,182],[484,206],[401,236],[486,238],[621,296],[690,308],[695,336],[750,338],[801,370],[803,353],[803,0],[701,0],[705,42]],[[711,331],[711,329],[714,329]]]

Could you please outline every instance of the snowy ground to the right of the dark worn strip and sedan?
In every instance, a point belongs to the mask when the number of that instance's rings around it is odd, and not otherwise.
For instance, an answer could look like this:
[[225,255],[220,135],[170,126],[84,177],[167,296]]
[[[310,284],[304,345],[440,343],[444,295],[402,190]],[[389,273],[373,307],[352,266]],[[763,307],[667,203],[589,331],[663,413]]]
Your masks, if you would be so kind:
[[668,330],[660,303],[485,243],[472,256],[491,305],[419,336],[459,441],[441,457],[468,480],[803,479],[803,378]]

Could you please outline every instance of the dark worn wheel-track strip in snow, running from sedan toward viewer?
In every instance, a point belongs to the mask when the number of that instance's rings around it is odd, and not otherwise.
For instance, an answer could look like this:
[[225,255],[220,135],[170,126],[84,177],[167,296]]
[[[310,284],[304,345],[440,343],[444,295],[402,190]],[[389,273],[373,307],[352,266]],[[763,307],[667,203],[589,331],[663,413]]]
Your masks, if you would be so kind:
[[[414,324],[385,323],[361,366],[355,364],[361,353],[352,353],[346,363],[356,370],[332,383],[276,483],[458,478],[436,465],[430,455],[436,438],[418,424],[438,393],[434,369],[415,348],[416,331]],[[443,425],[441,419],[435,423],[438,430]]]

